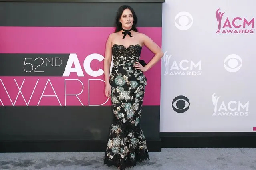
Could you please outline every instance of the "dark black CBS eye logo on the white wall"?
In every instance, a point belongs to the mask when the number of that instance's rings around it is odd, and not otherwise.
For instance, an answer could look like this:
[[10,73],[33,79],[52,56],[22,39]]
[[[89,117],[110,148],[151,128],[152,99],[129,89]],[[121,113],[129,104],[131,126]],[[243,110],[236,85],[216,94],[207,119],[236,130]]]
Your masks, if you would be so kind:
[[185,96],[177,96],[172,101],[172,108],[177,113],[184,113],[190,106],[189,99]]

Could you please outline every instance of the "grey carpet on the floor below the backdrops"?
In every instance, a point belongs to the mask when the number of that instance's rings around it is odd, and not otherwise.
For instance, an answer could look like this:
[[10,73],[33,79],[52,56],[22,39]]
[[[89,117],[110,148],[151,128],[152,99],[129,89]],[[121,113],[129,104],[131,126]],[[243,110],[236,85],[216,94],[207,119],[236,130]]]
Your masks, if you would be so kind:
[[[103,152],[0,153],[0,169],[118,170],[103,166]],[[162,148],[128,170],[256,170],[256,148]]]

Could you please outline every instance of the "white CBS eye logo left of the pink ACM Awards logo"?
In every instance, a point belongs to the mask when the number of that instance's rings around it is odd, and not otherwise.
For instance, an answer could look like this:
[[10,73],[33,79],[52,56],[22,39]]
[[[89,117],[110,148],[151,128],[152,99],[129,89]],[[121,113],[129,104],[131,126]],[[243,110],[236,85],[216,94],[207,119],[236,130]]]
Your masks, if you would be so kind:
[[187,30],[193,24],[193,17],[188,12],[179,12],[175,16],[174,23],[179,30]]

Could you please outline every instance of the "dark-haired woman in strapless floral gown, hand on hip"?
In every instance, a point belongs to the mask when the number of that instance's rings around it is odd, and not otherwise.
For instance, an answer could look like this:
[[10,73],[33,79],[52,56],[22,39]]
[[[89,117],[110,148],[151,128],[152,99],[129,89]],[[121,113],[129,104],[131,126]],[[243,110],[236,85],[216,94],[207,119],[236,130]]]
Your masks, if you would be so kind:
[[[115,33],[109,35],[104,60],[105,95],[111,98],[114,121],[111,125],[104,164],[121,170],[149,159],[145,136],[140,128],[141,107],[149,70],[163,57],[160,47],[136,28],[137,16],[127,5],[117,11]],[[146,45],[155,56],[143,67],[141,48]],[[113,68],[109,70],[113,55]]]

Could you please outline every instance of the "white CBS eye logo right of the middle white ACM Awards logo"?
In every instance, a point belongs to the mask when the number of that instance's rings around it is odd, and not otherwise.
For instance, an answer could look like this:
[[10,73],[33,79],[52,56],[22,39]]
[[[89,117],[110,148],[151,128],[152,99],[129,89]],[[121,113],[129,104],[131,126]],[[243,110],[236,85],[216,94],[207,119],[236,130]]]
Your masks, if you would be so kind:
[[224,67],[227,71],[234,73],[242,67],[242,59],[236,55],[228,55],[224,60]]

